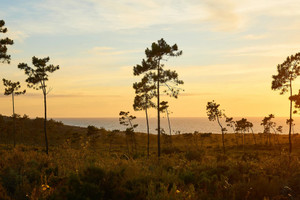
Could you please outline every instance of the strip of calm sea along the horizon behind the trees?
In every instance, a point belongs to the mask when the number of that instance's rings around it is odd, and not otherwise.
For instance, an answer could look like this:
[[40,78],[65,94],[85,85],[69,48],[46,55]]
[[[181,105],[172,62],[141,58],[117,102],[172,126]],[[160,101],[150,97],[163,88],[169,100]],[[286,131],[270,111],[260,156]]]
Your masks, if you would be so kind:
[[[240,120],[241,118],[233,118],[233,120]],[[262,133],[263,126],[261,125],[263,117],[247,117],[247,120],[253,123],[253,131],[255,133]],[[105,128],[106,130],[125,130],[126,127],[119,123],[118,118],[54,118],[56,121],[61,121],[66,125],[87,127],[89,125]],[[287,134],[289,126],[286,124],[287,118],[276,117],[273,119],[277,126],[283,126],[283,134]],[[136,118],[133,121],[134,124],[138,124],[135,128],[136,132],[147,132],[146,119]],[[224,119],[221,119],[221,123],[226,127]],[[294,118],[295,126],[293,126],[292,133],[300,133],[300,117]],[[155,134],[157,131],[157,119],[149,119],[150,133]],[[171,133],[221,133],[220,126],[216,121],[209,121],[206,117],[171,117],[170,118]],[[165,133],[169,134],[170,129],[167,118],[161,118],[161,128]],[[226,127],[228,133],[232,133],[231,127]]]

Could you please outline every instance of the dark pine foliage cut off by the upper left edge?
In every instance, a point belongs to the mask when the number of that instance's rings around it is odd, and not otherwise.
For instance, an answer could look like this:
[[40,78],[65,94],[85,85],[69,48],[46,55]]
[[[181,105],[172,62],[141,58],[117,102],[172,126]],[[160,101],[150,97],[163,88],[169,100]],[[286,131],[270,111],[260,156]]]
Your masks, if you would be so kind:
[[[6,33],[7,28],[4,27],[4,20],[0,20],[0,33]],[[7,55],[7,45],[13,45],[13,40],[9,38],[0,39],[0,62],[10,63],[10,55]]]

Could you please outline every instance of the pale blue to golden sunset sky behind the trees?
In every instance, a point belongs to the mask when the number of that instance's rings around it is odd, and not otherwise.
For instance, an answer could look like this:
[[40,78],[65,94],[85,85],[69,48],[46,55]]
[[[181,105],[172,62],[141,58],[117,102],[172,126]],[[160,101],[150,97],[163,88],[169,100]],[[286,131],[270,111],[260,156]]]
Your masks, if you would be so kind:
[[[2,0],[0,19],[9,30],[0,38],[15,42],[0,78],[25,88],[18,63],[49,56],[60,65],[49,77],[49,117],[133,112],[132,84],[140,79],[133,66],[161,38],[183,51],[165,63],[185,82],[178,99],[162,97],[172,116],[205,117],[211,100],[233,117],[289,114],[288,96],[272,91],[271,81],[277,64],[300,51],[299,0]],[[0,113],[11,115],[11,98],[0,90]],[[27,89],[15,106],[43,116],[42,92]]]

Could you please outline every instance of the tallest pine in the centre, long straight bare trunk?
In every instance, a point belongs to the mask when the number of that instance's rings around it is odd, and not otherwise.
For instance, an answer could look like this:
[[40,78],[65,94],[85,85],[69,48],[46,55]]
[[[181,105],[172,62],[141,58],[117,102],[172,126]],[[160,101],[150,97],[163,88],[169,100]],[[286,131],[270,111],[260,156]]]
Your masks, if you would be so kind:
[[[173,46],[168,45],[164,39],[160,39],[157,43],[153,42],[151,49],[145,50],[146,60],[142,60],[141,65],[133,67],[133,74],[138,76],[145,73],[149,81],[156,84],[156,97],[157,105],[160,105],[160,88],[165,86],[167,89],[163,92],[171,97],[178,97],[180,88],[178,85],[183,84],[182,80],[178,79],[176,71],[165,70],[163,61],[167,61],[170,57],[177,57],[182,55],[182,51],[178,50],[176,44]],[[158,157],[160,157],[160,111],[157,106],[157,147]]]

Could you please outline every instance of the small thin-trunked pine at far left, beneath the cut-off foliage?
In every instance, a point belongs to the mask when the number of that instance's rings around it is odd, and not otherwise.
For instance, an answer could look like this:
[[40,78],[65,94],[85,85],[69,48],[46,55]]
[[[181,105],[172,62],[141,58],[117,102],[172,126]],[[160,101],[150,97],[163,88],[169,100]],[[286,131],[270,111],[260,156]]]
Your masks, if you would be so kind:
[[18,92],[21,88],[20,82],[12,82],[11,80],[2,79],[3,85],[5,86],[4,95],[11,95],[12,107],[13,107],[13,137],[14,147],[16,146],[16,114],[15,114],[15,96],[25,94],[26,90]]

